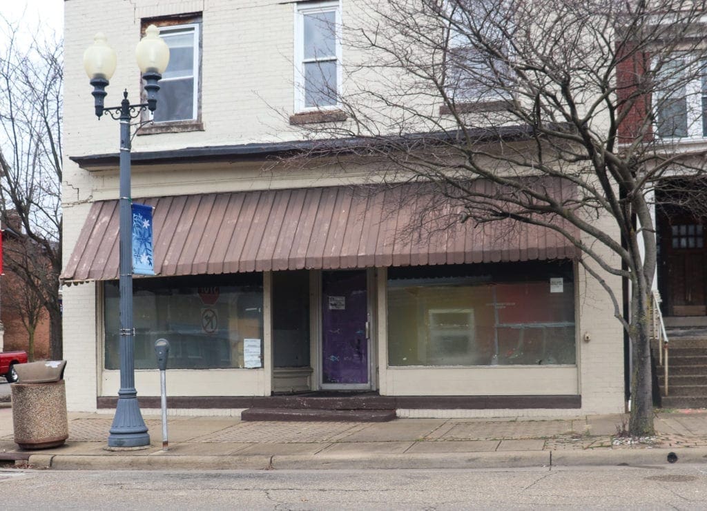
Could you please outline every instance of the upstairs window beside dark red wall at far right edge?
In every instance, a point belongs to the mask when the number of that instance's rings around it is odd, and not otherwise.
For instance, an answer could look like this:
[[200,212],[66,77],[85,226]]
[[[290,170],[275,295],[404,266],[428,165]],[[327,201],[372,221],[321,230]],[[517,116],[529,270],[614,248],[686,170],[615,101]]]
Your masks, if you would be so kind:
[[655,72],[655,130],[660,138],[707,137],[707,62],[670,56]]

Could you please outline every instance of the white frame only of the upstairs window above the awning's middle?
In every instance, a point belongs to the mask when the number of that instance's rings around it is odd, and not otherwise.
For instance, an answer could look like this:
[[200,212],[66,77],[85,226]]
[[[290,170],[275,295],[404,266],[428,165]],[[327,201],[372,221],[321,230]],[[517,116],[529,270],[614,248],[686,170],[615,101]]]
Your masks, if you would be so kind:
[[[305,14],[316,14],[334,11],[334,23],[336,32],[334,34],[334,59],[306,59],[304,56],[305,49],[305,29],[304,16]],[[295,4],[295,112],[318,112],[322,110],[337,110],[341,107],[339,104],[339,95],[341,94],[341,5],[339,1],[322,1],[312,3]],[[316,61],[331,61],[335,60],[337,64],[337,104],[326,105],[322,107],[305,107],[305,63]]]

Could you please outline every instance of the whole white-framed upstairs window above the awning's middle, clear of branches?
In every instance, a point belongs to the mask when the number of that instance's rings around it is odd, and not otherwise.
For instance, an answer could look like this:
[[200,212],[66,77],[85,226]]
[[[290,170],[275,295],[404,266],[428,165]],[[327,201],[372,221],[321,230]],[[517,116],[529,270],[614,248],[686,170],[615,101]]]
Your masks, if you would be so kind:
[[337,107],[341,87],[339,2],[296,6],[295,110]]

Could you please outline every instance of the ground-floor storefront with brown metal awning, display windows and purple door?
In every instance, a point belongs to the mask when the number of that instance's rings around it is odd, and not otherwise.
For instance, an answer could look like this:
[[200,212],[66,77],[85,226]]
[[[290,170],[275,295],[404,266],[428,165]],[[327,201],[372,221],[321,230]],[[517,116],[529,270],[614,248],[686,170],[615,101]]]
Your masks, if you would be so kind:
[[[397,397],[404,416],[623,406],[620,380],[613,402],[583,387],[588,354],[620,332],[592,323],[606,301],[590,298],[602,291],[561,236],[457,222],[415,238],[411,211],[385,207],[405,188],[362,190],[141,200],[155,206],[158,275],[134,279],[139,395],[158,396],[165,338],[185,409],[238,413],[247,397],[307,392]],[[99,409],[119,387],[116,244],[116,201],[94,203],[64,271],[69,294],[95,293]],[[592,338],[604,328],[614,337]]]

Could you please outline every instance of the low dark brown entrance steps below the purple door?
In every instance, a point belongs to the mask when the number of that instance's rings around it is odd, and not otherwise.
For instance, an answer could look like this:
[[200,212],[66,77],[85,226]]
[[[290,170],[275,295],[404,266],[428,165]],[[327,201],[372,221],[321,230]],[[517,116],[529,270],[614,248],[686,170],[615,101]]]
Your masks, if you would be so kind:
[[395,401],[375,392],[307,392],[257,399],[243,421],[385,422],[395,419]]

